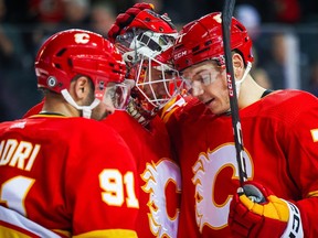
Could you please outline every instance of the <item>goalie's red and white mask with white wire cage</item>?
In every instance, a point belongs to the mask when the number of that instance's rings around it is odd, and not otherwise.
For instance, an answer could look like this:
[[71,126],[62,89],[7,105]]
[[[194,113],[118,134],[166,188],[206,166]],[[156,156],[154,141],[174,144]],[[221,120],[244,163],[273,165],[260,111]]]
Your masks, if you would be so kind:
[[179,94],[181,80],[171,61],[177,35],[167,15],[147,9],[116,37],[116,46],[128,66],[128,78],[135,82],[134,106],[146,121]]

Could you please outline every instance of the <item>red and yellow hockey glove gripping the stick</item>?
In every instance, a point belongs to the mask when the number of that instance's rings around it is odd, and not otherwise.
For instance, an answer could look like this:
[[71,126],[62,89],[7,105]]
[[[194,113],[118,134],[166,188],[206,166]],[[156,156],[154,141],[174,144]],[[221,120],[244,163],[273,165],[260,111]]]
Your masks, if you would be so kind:
[[255,182],[234,195],[229,214],[233,237],[304,237],[298,208]]

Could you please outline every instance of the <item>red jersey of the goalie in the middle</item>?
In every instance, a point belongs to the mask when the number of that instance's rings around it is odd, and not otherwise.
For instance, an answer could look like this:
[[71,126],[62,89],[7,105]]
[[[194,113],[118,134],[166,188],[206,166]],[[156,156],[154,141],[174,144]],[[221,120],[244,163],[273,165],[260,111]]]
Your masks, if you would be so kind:
[[156,117],[146,129],[126,111],[116,111],[104,122],[124,138],[137,162],[140,184],[138,237],[177,237],[180,167],[172,160],[165,123]]

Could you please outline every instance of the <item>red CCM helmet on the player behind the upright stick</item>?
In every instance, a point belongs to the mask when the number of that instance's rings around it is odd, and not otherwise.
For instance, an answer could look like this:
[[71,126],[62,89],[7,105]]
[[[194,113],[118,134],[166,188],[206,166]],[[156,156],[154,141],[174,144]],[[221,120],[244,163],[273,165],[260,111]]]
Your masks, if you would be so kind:
[[[245,26],[235,18],[231,24],[231,50],[242,54],[244,63],[253,62],[252,41]],[[224,64],[221,12],[206,14],[184,25],[173,47],[174,67],[178,71],[206,60]]]

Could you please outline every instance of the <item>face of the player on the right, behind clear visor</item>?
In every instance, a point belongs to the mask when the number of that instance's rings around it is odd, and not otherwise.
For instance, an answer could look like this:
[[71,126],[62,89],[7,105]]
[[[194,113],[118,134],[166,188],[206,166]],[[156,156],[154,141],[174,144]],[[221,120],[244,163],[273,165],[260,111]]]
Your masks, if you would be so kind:
[[215,61],[193,65],[182,72],[182,77],[190,86],[190,94],[213,113],[220,115],[230,109],[226,71]]

